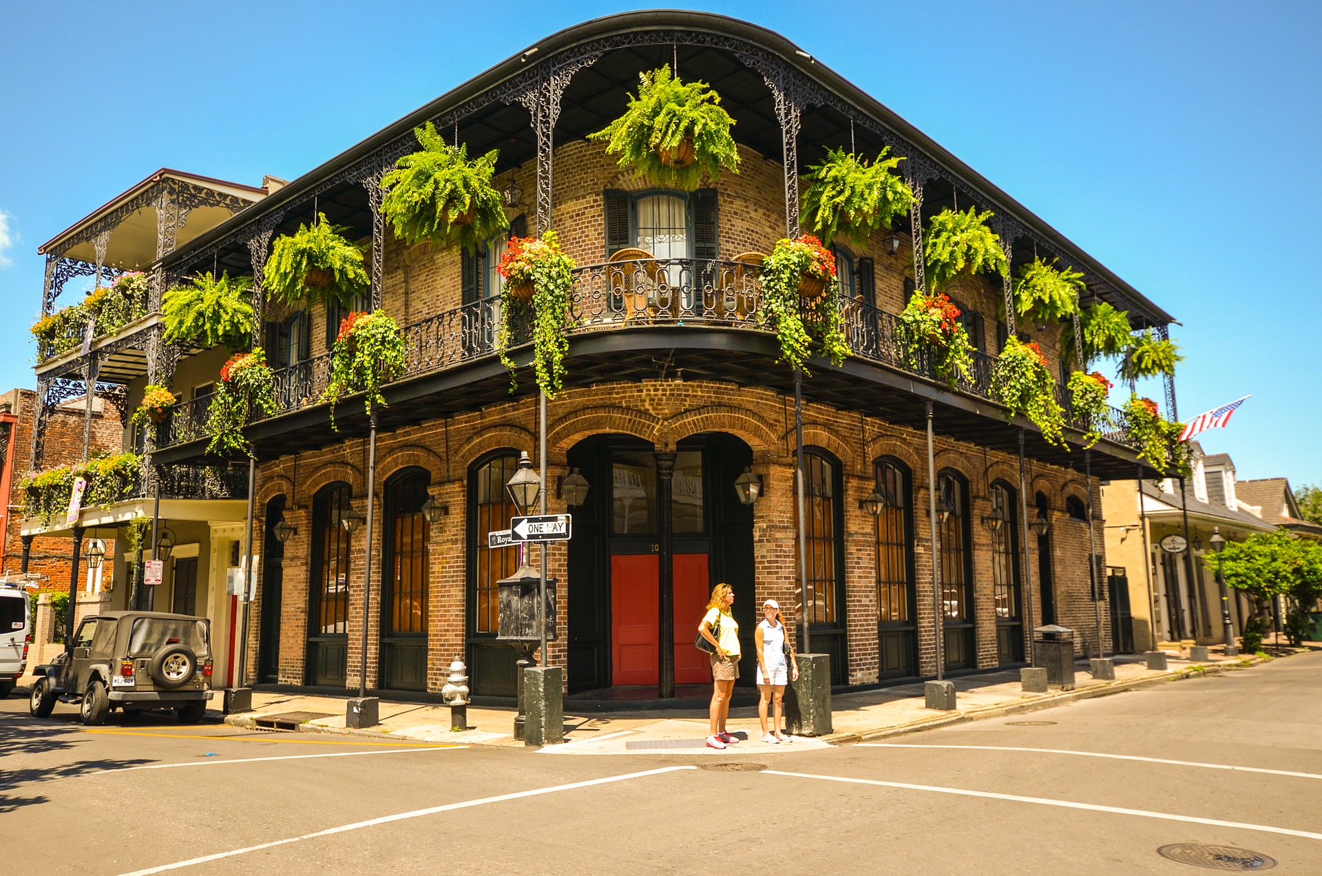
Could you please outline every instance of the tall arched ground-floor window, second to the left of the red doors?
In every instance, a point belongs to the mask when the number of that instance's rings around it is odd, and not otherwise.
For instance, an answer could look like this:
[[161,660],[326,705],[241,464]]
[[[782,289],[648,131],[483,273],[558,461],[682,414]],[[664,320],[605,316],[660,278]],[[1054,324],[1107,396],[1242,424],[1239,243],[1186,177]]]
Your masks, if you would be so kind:
[[427,688],[427,539],[422,513],[431,474],[408,468],[386,480],[385,580],[381,582],[381,687]]

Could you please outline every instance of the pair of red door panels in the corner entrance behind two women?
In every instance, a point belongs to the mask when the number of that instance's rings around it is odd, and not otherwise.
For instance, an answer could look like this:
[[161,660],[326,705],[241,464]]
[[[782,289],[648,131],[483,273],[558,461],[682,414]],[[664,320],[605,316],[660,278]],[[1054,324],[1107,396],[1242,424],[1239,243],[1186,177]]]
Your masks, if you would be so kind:
[[[654,685],[660,675],[660,569],[654,553],[611,557],[611,684]],[[707,554],[677,553],[674,683],[711,680],[707,655],[693,647],[709,599]]]

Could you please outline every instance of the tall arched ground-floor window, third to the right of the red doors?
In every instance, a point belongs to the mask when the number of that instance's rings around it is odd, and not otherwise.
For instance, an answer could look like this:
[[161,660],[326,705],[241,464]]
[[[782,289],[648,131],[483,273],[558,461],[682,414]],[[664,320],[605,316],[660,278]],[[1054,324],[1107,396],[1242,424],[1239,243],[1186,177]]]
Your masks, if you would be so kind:
[[973,668],[973,566],[969,554],[969,486],[953,471],[937,476],[937,517],[941,527],[941,605],[945,613],[945,666]]

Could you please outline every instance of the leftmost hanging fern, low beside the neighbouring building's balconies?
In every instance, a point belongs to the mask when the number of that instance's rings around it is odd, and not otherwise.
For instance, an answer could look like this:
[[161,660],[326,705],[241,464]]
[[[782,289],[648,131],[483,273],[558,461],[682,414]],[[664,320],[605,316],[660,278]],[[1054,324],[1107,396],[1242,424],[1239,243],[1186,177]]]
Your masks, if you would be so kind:
[[165,340],[194,347],[223,344],[231,352],[246,348],[253,340],[251,288],[251,277],[230,279],[225,271],[215,279],[208,271],[169,290],[161,299]]

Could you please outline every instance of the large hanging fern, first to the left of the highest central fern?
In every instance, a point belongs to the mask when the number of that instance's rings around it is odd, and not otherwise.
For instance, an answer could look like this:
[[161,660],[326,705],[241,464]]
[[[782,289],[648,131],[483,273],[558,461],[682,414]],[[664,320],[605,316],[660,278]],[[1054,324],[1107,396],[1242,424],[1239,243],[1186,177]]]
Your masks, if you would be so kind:
[[448,146],[428,122],[414,128],[422,150],[395,161],[381,180],[381,212],[395,237],[412,245],[431,240],[476,253],[483,241],[509,228],[500,192],[492,187],[498,150],[468,160],[467,146]]

